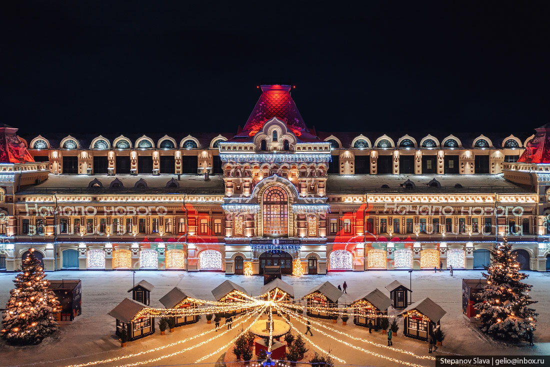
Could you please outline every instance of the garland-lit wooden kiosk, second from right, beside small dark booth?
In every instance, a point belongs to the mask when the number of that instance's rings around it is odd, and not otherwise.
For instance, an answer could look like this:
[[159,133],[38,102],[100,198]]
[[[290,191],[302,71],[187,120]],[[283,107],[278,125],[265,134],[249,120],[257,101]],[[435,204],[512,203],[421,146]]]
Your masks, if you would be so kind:
[[353,323],[368,327],[368,322],[371,321],[372,326],[378,330],[382,322],[382,318],[378,316],[387,316],[391,305],[392,300],[377,288],[350,305],[354,307]]

